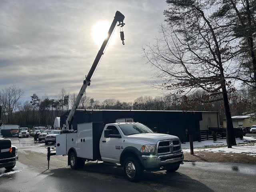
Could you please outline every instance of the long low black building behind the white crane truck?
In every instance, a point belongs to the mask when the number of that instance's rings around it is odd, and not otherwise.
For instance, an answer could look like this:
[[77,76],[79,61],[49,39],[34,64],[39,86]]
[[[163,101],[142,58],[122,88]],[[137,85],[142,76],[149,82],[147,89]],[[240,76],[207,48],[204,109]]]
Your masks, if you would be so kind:
[[[60,117],[60,125],[65,124],[69,111]],[[73,129],[77,124],[85,122],[116,122],[120,118],[133,118],[158,133],[178,136],[180,140],[189,141],[189,134],[196,135],[200,131],[199,121],[202,112],[186,111],[147,111],[147,110],[76,110],[73,120]]]

